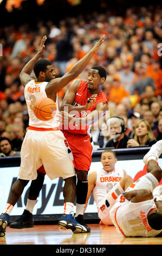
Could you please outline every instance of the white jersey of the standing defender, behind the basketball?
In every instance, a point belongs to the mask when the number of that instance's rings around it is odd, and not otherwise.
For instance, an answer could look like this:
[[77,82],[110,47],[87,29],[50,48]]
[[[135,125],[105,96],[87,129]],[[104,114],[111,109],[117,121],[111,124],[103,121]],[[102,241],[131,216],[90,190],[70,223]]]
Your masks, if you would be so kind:
[[[28,113],[29,113],[29,125],[34,127],[43,127],[43,128],[54,128],[59,126],[59,121],[56,120],[56,117],[48,120],[48,121],[41,121],[38,119],[34,112],[33,106],[37,99],[42,97],[47,97],[45,88],[48,82],[35,82],[35,80],[31,80],[29,83],[26,84],[24,88],[24,96],[25,101],[27,102]],[[56,97],[56,108],[57,111],[59,110],[57,97]]]

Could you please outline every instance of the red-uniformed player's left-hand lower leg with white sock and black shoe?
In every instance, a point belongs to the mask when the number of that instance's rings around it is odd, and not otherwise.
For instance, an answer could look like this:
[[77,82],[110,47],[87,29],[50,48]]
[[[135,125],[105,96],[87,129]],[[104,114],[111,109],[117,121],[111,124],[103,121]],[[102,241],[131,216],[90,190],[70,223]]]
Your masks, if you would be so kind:
[[36,199],[38,194],[40,193],[43,182],[44,182],[44,175],[45,173],[37,172],[37,179],[31,181],[30,189],[29,189],[29,196],[27,200],[26,208],[21,215],[15,222],[10,224],[10,228],[31,228],[34,227],[34,219],[33,219],[33,209],[36,204]]

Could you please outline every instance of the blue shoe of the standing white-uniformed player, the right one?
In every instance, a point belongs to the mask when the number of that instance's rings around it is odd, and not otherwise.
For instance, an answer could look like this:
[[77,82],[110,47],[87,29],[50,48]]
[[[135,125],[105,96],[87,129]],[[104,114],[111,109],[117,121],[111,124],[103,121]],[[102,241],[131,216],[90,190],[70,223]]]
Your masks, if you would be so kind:
[[59,220],[58,225],[60,228],[71,229],[75,234],[86,232],[85,227],[75,220],[73,214],[63,214]]

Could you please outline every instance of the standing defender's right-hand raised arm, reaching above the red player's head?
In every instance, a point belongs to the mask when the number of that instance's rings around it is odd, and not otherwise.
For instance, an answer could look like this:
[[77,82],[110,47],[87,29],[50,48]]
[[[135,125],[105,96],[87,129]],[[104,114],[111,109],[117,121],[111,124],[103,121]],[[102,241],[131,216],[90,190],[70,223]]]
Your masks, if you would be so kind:
[[103,35],[98,42],[95,43],[93,48],[77,62],[64,76],[59,78],[54,78],[46,86],[46,93],[53,95],[58,90],[66,86],[69,82],[74,80],[79,74],[86,68],[90,59],[92,59],[93,54],[97,52],[104,40],[105,35]]

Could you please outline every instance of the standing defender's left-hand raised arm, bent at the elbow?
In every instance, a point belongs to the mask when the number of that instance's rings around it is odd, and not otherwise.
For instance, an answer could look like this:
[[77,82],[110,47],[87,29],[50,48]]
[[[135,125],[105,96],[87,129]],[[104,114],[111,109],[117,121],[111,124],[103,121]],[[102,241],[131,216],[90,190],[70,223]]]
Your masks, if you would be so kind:
[[20,81],[23,86],[25,86],[30,80],[33,80],[33,78],[30,77],[30,74],[33,70],[34,64],[44,53],[44,50],[45,50],[44,42],[46,41],[46,39],[47,39],[47,36],[44,35],[41,40],[40,48],[39,48],[38,52],[32,59],[29,60],[29,62],[24,66],[24,68],[22,69],[22,71],[20,73]]

